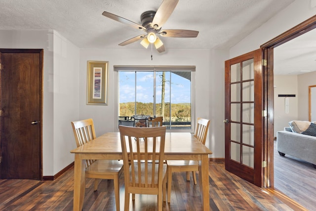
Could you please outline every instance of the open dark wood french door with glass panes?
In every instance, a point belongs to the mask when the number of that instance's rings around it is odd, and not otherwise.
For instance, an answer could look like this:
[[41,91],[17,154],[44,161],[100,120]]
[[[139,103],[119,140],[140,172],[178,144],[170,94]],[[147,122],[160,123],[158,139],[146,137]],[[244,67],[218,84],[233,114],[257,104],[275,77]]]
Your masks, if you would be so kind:
[[262,50],[225,61],[225,168],[262,186]]

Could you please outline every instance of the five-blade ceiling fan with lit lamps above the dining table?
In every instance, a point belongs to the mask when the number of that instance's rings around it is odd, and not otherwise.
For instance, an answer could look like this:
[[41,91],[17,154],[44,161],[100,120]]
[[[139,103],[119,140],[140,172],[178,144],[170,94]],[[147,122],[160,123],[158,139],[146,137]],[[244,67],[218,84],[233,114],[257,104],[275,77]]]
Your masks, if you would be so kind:
[[160,35],[161,37],[171,38],[196,38],[198,35],[198,31],[193,30],[161,29],[162,25],[167,21],[167,19],[173,12],[178,1],[179,0],[163,0],[157,11],[149,10],[143,12],[140,16],[142,25],[106,11],[104,11],[102,15],[147,33],[136,36],[127,41],[121,42],[118,45],[124,46],[132,42],[142,40],[140,43],[145,48],[147,48],[150,43],[153,43],[158,52],[161,53],[165,51],[165,48],[161,40],[157,37],[157,35]]

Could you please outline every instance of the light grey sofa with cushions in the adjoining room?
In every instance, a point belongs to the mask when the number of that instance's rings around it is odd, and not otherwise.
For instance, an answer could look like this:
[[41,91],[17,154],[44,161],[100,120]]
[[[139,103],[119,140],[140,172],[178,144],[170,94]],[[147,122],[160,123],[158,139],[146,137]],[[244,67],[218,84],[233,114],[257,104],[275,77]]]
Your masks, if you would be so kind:
[[316,122],[291,121],[289,126],[276,133],[279,155],[296,157],[316,168]]

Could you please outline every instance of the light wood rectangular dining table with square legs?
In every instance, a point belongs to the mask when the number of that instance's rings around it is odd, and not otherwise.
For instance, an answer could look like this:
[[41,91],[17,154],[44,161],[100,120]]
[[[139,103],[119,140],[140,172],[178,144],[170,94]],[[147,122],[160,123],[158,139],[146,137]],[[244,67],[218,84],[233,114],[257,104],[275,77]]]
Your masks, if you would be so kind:
[[[74,211],[81,211],[85,191],[85,160],[122,160],[119,132],[107,132],[70,151],[75,154]],[[209,211],[208,155],[212,152],[190,132],[166,132],[164,160],[198,160],[202,210]]]

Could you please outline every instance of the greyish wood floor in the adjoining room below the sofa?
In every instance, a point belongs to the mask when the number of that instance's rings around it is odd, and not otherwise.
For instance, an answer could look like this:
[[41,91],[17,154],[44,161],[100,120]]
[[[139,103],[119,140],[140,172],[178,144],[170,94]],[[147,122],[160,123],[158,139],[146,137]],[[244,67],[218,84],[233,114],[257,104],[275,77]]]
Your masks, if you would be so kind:
[[316,169],[311,163],[274,150],[275,189],[310,211],[316,210]]

